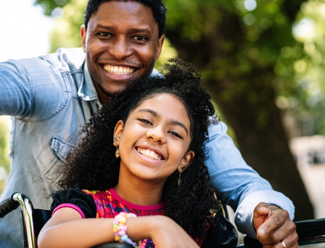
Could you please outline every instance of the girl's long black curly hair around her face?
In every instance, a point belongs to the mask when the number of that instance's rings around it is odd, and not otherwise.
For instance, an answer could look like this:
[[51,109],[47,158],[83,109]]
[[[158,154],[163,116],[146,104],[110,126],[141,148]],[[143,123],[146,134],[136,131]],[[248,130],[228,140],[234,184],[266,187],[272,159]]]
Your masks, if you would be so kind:
[[207,224],[214,229],[208,213],[218,210],[210,176],[205,165],[204,143],[208,138],[208,127],[218,118],[210,95],[202,87],[198,70],[180,59],[170,59],[164,65],[162,76],[137,79],[125,90],[114,94],[111,101],[85,124],[80,142],[67,156],[61,168],[63,178],[59,186],[63,189],[79,187],[88,190],[107,190],[118,183],[120,158],[115,157],[113,145],[114,127],[119,120],[124,123],[130,112],[146,99],[158,94],[171,94],[186,107],[191,122],[191,144],[189,151],[195,152],[192,164],[182,173],[180,187],[177,170],[171,174],[163,188],[165,215],[175,220],[199,242],[206,238]]

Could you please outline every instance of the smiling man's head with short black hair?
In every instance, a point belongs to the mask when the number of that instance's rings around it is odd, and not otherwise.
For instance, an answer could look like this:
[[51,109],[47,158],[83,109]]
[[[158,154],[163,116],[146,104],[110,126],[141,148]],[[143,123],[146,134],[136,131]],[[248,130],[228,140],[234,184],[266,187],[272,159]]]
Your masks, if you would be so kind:
[[[99,98],[123,90],[130,80],[149,77],[164,36],[149,7],[135,1],[102,3],[81,27],[82,46]],[[102,96],[102,97],[101,97]]]

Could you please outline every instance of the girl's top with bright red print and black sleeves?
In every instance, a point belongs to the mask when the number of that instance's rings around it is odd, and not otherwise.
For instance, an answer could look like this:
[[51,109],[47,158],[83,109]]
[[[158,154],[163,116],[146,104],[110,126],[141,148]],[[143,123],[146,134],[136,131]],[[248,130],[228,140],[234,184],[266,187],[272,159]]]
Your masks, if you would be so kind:
[[[121,212],[133,213],[136,216],[164,215],[165,204],[142,206],[132,204],[120,197],[115,190],[88,191],[70,188],[52,196],[52,215],[60,208],[69,207],[85,218],[114,218]],[[204,242],[202,248],[235,248],[238,235],[233,225],[217,211],[218,229]],[[208,228],[208,226],[207,226]],[[195,239],[195,241],[197,241]],[[141,242],[141,248],[157,248],[152,239]]]

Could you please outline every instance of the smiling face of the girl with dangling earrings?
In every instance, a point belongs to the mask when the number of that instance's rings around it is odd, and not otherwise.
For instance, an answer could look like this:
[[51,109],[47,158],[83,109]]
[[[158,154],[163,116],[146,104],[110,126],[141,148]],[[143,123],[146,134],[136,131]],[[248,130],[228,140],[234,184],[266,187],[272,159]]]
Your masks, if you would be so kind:
[[[121,170],[143,180],[165,182],[176,169],[190,165],[190,119],[183,103],[159,94],[134,109],[126,123],[115,127]],[[114,142],[114,144],[116,144]]]

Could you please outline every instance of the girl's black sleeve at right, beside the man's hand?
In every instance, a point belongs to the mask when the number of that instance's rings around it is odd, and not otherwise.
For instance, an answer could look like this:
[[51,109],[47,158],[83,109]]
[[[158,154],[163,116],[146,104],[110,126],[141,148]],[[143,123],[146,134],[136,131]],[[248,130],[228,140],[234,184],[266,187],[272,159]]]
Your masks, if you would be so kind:
[[210,233],[201,248],[236,248],[238,233],[235,227],[220,211],[216,212],[214,221],[216,221],[217,228]]

